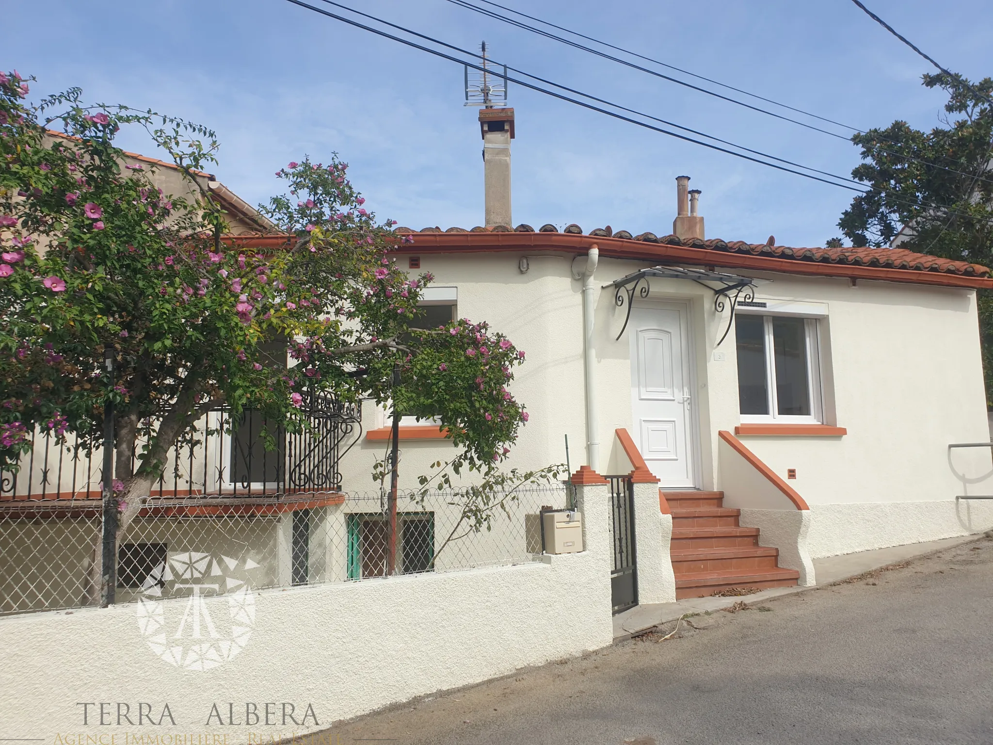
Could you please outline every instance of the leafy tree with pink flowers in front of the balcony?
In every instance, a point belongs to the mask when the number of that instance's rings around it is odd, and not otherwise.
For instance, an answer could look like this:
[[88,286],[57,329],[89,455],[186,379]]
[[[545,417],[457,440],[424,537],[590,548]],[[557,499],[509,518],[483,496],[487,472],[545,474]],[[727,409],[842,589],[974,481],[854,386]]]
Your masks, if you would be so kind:
[[[190,175],[214,162],[212,132],[75,89],[37,105],[28,92],[0,74],[0,468],[38,429],[98,440],[112,401],[123,528],[207,412],[251,408],[292,432],[324,393],[437,416],[450,470],[495,477],[527,420],[508,390],[524,353],[485,323],[418,328],[432,278],[399,268],[390,252],[410,238],[362,206],[337,156],[277,172],[287,193],[260,209],[286,237],[248,248],[220,237],[224,213],[195,179],[163,194],[113,142],[143,127]],[[290,365],[271,364],[273,345]]]

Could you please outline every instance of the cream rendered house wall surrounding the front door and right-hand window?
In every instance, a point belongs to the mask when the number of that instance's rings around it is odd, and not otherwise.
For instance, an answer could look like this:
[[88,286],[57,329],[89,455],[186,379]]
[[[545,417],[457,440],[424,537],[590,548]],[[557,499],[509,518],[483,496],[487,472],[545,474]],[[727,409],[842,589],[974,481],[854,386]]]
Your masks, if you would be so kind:
[[[529,256],[525,274],[517,268],[522,255]],[[458,286],[460,317],[490,321],[527,353],[513,391],[531,418],[521,428],[509,465],[563,462],[564,434],[569,435],[573,470],[585,463],[581,283],[571,277],[571,257],[425,254],[421,261],[438,285]],[[595,283],[601,286],[649,265],[602,257]],[[958,494],[993,494],[990,452],[956,450],[949,458],[947,450],[949,443],[989,439],[971,290],[866,280],[853,287],[844,278],[726,271],[769,280],[759,288],[760,299],[828,307],[828,318],[819,322],[826,423],[846,427],[848,434],[742,437],[782,478],[786,469],[796,469],[790,486],[810,505],[812,556],[964,534],[993,524],[993,509],[985,504],[956,506],[954,500]],[[734,329],[716,346],[728,310],[717,314],[713,293],[693,282],[652,279],[650,287],[652,300],[688,305],[699,486],[719,490],[717,432],[734,432],[741,423]],[[627,461],[614,430],[634,431],[629,332],[615,339],[627,302],[618,307],[609,287],[600,290],[596,309],[601,471],[620,473],[616,469]],[[379,424],[366,422],[367,427]],[[364,480],[383,445],[363,441],[356,447],[346,471],[347,489],[372,486]],[[439,441],[405,440],[401,447],[401,485],[413,486],[404,480],[451,455],[451,446]],[[905,503],[936,504],[919,506],[917,513],[884,510],[886,517],[880,519],[886,525],[850,524],[866,519],[865,509],[857,506]]]

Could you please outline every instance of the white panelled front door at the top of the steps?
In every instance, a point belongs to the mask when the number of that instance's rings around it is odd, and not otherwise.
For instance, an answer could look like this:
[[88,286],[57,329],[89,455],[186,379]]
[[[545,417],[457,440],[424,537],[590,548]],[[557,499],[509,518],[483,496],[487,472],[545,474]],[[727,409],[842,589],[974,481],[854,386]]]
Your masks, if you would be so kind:
[[684,305],[635,306],[628,324],[635,438],[663,489],[697,486],[687,315]]

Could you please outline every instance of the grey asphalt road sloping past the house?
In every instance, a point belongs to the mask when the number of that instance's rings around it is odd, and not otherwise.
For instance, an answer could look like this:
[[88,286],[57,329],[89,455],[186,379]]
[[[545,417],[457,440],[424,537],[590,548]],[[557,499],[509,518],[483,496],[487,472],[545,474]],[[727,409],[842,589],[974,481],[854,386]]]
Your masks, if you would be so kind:
[[344,744],[993,743],[993,540],[694,622],[333,731]]

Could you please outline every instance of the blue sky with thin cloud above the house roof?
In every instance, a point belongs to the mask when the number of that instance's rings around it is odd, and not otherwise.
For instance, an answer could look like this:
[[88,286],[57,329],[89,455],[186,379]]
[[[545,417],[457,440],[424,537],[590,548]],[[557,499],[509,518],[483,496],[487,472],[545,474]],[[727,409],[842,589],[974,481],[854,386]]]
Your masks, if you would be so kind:
[[[313,0],[320,4],[319,0]],[[349,3],[346,3],[349,4]],[[570,50],[446,0],[352,6],[747,147],[847,175],[851,143]],[[897,118],[929,128],[944,97],[927,64],[849,0],[501,4],[697,74],[860,128]],[[867,5],[948,68],[993,74],[993,4],[871,0]],[[332,9],[334,10],[334,9]],[[463,106],[463,70],[285,0],[85,3],[0,0],[0,67],[34,91],[80,85],[87,98],[204,123],[221,142],[217,177],[252,204],[279,190],[277,168],[305,153],[351,164],[381,218],[421,228],[483,220],[482,141]],[[707,236],[822,245],[851,193],[750,164],[511,84],[514,223],[671,230],[675,181],[701,189]],[[812,121],[812,120],[808,120]],[[836,129],[837,128],[833,128]],[[844,130],[837,130],[844,132]],[[137,133],[127,149],[154,154]]]

